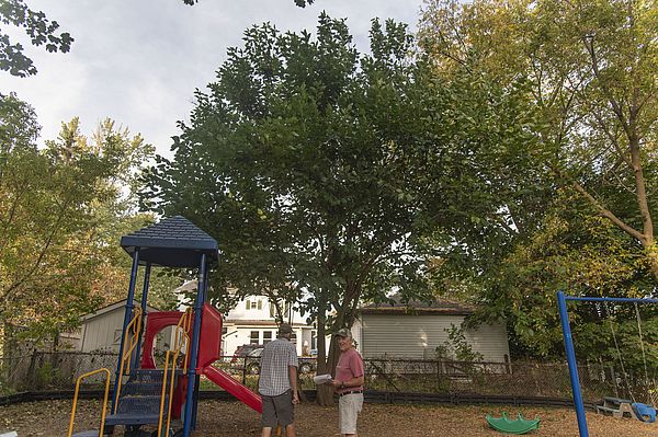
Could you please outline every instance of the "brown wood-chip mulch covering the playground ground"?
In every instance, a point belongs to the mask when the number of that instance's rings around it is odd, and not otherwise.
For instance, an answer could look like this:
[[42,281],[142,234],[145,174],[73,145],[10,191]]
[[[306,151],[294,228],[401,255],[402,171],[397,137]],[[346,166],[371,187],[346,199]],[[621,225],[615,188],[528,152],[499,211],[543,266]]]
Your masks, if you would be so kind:
[[[100,419],[98,401],[81,401],[76,419],[76,430],[98,428]],[[66,436],[69,424],[70,401],[41,401],[0,406],[0,435],[10,430],[19,437]],[[337,429],[338,407],[322,407],[304,403],[296,407],[297,436],[333,437]],[[522,413],[526,418],[538,415],[537,432],[529,436],[578,436],[576,413],[566,409],[501,407],[501,406],[439,406],[366,404],[359,421],[360,437],[485,437],[497,436],[487,427],[485,416]],[[658,423],[645,424],[632,418],[613,418],[588,413],[591,437],[656,437]],[[121,435],[122,433],[115,433]],[[194,437],[260,436],[260,416],[238,402],[201,401],[198,428]]]

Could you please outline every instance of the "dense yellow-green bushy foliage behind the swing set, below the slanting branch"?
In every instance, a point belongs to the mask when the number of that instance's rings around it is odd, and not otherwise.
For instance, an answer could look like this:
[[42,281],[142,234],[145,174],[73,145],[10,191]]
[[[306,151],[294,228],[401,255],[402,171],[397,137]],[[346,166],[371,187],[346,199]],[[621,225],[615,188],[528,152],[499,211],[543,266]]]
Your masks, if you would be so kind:
[[[555,357],[564,354],[556,290],[577,296],[643,297],[653,290],[642,248],[602,217],[576,193],[560,191],[546,205],[541,227],[518,241],[496,271],[480,284],[481,315],[506,319],[518,355]],[[570,310],[571,311],[571,310]],[[598,330],[600,313],[577,306],[574,330]],[[589,325],[591,324],[591,325]],[[599,353],[601,345],[581,342],[580,356]]]

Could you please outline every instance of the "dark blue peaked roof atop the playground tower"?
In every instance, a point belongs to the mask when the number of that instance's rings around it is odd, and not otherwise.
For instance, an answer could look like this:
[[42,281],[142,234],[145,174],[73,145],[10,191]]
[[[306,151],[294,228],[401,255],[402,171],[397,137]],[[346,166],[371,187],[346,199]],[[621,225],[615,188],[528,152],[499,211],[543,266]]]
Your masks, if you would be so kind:
[[121,246],[135,256],[139,248],[139,264],[163,267],[198,267],[201,255],[208,263],[217,261],[217,241],[182,216],[162,219],[121,238]]

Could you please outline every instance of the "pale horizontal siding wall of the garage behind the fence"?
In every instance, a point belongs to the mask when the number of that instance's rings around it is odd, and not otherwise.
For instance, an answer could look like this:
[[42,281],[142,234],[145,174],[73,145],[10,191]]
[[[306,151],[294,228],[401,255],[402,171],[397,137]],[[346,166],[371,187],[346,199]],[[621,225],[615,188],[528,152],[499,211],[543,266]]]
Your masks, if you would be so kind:
[[[366,358],[432,359],[435,347],[447,341],[445,330],[453,324],[460,326],[463,321],[463,315],[363,314],[355,331]],[[464,334],[485,361],[504,361],[504,356],[509,357],[504,325],[483,325]]]

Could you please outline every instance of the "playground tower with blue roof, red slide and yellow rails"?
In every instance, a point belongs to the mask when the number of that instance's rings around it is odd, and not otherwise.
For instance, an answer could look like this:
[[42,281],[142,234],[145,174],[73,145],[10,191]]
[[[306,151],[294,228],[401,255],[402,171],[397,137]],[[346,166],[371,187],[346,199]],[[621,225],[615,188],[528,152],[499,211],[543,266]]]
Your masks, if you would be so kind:
[[[262,412],[258,394],[212,366],[222,357],[222,314],[206,302],[208,267],[217,262],[217,242],[185,218],[177,216],[123,237],[121,245],[133,257],[133,267],[110,414],[105,415],[110,370],[99,369],[81,376],[76,387],[68,436],[102,437],[113,434],[115,426],[123,426],[126,437],[189,437],[196,427],[202,375],[249,407]],[[145,267],[144,288],[140,307],[135,308],[140,266]],[[152,266],[198,269],[198,288],[192,309],[146,315]],[[175,326],[175,341],[166,354],[163,368],[159,369],[152,355],[154,343],[156,335],[168,326]],[[73,434],[80,382],[99,372],[106,375],[100,428]],[[173,429],[172,419],[180,421],[182,427]],[[144,425],[158,428],[152,434],[146,433],[141,429]]]

